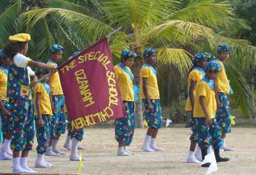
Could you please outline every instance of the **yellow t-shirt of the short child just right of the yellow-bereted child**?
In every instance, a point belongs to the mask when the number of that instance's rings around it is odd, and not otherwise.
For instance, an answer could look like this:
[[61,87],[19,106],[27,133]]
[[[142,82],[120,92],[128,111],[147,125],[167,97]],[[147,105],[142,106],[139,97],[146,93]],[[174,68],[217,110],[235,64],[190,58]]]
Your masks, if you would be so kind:
[[40,99],[41,113],[52,116],[50,97],[47,94],[47,91],[44,88],[44,85],[41,83],[36,83],[35,88],[34,88],[33,100],[34,100],[34,105],[35,105],[35,116],[38,115],[37,110],[36,110],[36,93],[41,93],[41,99]]

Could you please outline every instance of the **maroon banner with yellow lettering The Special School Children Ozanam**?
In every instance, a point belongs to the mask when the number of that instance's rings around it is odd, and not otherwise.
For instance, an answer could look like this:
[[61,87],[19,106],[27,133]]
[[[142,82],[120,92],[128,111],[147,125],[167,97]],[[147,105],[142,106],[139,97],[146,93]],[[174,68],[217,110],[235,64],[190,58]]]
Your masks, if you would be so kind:
[[125,116],[107,38],[60,65],[58,72],[72,129]]

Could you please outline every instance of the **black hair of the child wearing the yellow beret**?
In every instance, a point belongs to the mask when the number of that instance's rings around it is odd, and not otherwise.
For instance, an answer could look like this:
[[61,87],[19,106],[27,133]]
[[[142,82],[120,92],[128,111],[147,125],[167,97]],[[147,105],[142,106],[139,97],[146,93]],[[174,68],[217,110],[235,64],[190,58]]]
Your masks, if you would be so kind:
[[3,52],[6,57],[15,56],[20,50],[24,49],[28,42],[10,42],[4,46]]

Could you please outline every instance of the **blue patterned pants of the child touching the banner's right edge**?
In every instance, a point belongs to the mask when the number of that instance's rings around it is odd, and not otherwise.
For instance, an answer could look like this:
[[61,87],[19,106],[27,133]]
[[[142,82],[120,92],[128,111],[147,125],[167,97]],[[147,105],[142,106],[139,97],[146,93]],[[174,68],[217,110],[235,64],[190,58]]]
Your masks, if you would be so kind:
[[123,103],[126,116],[125,118],[115,119],[115,139],[118,143],[129,146],[135,128],[134,102],[123,101]]

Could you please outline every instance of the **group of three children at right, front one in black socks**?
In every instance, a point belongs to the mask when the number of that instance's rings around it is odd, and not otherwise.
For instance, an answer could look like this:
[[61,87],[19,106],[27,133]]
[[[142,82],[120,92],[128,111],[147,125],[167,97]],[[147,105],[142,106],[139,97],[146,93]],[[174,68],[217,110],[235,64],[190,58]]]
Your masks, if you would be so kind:
[[[187,162],[200,164],[214,149],[216,162],[227,162],[221,158],[220,150],[232,151],[225,145],[226,133],[230,132],[230,104],[228,96],[232,89],[225,72],[224,61],[228,59],[229,47],[219,45],[218,59],[211,53],[198,53],[193,60],[193,68],[188,75],[188,95],[186,111],[192,130]],[[198,149],[195,149],[198,144]],[[209,167],[211,164],[202,164]]]

